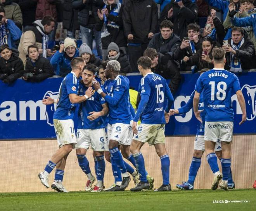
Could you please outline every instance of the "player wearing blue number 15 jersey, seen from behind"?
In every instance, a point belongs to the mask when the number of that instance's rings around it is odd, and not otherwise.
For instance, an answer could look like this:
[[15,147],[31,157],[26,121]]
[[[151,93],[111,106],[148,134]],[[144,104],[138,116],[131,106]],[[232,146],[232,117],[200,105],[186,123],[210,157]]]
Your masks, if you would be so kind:
[[[141,100],[133,119],[134,136],[131,142],[131,153],[140,174],[140,182],[131,191],[140,191],[150,187],[146,178],[144,158],[140,152],[145,142],[154,145],[161,160],[163,185],[155,191],[171,190],[169,180],[170,158],[165,148],[164,128],[165,123],[169,122],[169,110],[173,103],[173,96],[166,80],[162,76],[151,72],[151,66],[152,62],[149,57],[144,56],[138,59],[138,69],[143,78],[139,84]],[[167,106],[165,106],[165,98],[167,98]],[[141,124],[137,127],[140,117]]]

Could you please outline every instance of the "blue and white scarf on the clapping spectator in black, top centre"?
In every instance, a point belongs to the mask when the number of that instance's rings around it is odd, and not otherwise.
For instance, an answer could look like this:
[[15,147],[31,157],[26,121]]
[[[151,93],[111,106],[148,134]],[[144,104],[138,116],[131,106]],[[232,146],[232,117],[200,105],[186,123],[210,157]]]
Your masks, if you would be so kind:
[[[107,5],[105,5],[103,8],[106,8],[106,7],[107,7]],[[116,4],[116,7],[109,14],[114,15],[114,16],[118,16],[118,14],[120,12],[120,8],[121,8],[121,3],[118,2]],[[101,31],[101,37],[102,38],[107,37],[107,36],[110,35],[110,33],[107,31],[107,26],[119,29],[119,26],[115,22],[109,21],[105,14],[103,15],[103,20],[104,20],[104,24],[103,24],[102,31]]]

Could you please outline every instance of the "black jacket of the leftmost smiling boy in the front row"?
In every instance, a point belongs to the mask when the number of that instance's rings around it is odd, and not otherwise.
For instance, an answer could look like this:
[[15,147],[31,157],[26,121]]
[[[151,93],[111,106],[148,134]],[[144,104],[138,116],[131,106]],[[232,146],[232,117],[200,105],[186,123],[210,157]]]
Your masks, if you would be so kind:
[[[6,75],[7,74],[7,75]],[[11,55],[9,60],[0,58],[0,79],[13,82],[24,74],[24,65],[19,57]]]

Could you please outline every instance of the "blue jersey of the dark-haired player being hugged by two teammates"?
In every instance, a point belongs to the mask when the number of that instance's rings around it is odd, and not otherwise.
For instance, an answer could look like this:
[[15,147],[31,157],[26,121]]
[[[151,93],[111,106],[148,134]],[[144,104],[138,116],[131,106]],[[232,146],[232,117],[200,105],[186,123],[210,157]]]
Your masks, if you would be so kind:
[[[81,85],[79,94],[83,95],[88,87]],[[94,89],[94,88],[93,88]],[[100,129],[105,128],[104,117],[98,117],[97,119],[90,121],[87,117],[90,116],[90,112],[100,112],[102,110],[102,104],[106,103],[106,100],[94,90],[93,95],[80,103],[78,117],[78,129]]]

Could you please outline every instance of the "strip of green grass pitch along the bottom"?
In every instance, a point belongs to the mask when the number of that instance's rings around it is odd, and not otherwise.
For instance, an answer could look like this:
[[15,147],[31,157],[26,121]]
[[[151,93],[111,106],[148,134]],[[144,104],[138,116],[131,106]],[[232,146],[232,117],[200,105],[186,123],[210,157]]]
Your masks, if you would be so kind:
[[[216,201],[215,201],[216,200]],[[248,202],[228,202],[248,201]],[[224,201],[224,203],[221,203]],[[216,203],[219,202],[219,203]],[[256,190],[173,190],[171,192],[0,193],[0,211],[251,211]]]

